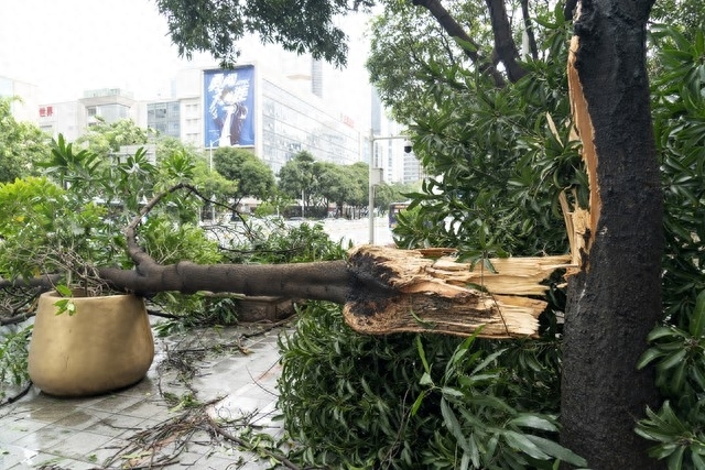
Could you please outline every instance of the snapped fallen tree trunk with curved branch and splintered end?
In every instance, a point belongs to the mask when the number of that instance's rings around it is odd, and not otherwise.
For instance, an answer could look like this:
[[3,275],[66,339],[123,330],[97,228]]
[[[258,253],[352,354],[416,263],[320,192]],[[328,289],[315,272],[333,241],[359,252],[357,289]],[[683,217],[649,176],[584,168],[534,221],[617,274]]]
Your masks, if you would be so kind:
[[456,262],[453,250],[397,250],[362,245],[347,261],[297,264],[216,264],[188,261],[162,265],[138,242],[143,217],[166,194],[196,188],[180,184],[154,197],[126,229],[134,270],[104,267],[113,288],[152,295],[164,291],[236,293],[247,296],[329,300],[345,305],[346,321],[365,334],[436,331],[487,338],[534,337],[545,302],[541,282],[566,267],[570,256],[507,258]]

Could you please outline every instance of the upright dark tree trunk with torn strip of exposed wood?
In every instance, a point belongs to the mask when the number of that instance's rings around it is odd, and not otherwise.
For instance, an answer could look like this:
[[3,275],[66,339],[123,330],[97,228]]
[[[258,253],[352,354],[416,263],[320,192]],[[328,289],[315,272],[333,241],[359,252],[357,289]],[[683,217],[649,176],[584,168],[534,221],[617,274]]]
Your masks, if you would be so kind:
[[592,469],[663,467],[634,431],[658,404],[637,371],[661,316],[662,194],[649,107],[651,0],[584,0],[568,76],[590,178],[582,269],[568,280],[562,444]]

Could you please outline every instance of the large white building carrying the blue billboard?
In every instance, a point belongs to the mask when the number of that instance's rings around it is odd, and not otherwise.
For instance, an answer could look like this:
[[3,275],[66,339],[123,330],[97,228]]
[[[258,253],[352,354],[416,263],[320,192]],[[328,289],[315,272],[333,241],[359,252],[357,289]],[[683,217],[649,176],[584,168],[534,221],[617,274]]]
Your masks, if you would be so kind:
[[[301,76],[292,81],[291,75],[274,76],[268,70],[259,63],[227,70],[183,70],[175,84],[184,114],[182,140],[204,149],[252,149],[275,173],[304,150],[337,164],[361,160],[361,132],[314,92],[321,78],[310,76],[302,87]],[[148,103],[148,108],[165,105]],[[148,114],[148,125],[158,129],[158,124],[156,116]]]

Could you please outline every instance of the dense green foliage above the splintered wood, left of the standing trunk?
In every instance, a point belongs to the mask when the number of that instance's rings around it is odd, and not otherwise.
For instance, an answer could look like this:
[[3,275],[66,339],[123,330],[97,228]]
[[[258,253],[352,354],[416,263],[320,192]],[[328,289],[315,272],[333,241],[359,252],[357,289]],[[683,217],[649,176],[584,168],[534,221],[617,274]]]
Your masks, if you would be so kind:
[[[577,142],[571,139],[565,81],[567,30],[545,28],[551,62],[529,62],[532,74],[513,86],[459,67],[429,87],[435,112],[416,117],[414,151],[427,174],[411,194],[394,230],[403,247],[455,247],[464,255],[536,255],[567,250],[558,195],[586,206]],[[412,217],[413,215],[413,217]]]

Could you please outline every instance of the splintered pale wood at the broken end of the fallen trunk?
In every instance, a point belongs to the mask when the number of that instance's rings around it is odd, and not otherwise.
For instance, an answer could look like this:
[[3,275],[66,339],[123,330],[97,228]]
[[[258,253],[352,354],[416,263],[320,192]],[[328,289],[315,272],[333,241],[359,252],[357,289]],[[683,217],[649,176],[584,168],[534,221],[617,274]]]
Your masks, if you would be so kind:
[[492,272],[447,255],[362,245],[350,251],[350,270],[381,281],[380,289],[388,292],[354,292],[343,311],[364,334],[468,336],[481,327],[485,338],[535,337],[546,303],[527,296],[545,294],[541,281],[570,261],[568,255],[491,259]]

